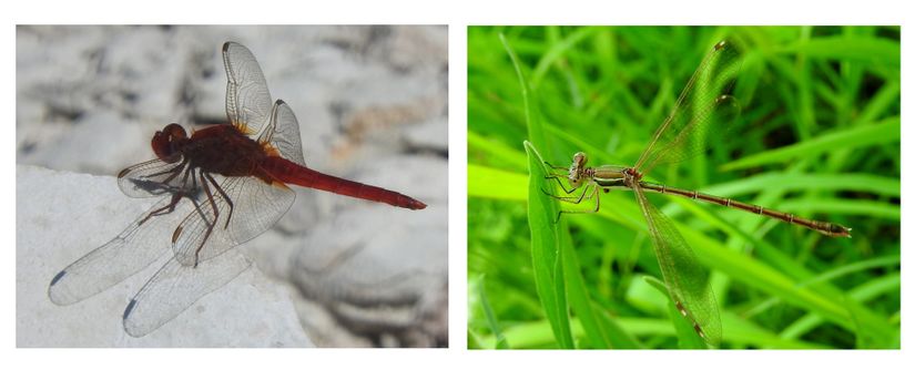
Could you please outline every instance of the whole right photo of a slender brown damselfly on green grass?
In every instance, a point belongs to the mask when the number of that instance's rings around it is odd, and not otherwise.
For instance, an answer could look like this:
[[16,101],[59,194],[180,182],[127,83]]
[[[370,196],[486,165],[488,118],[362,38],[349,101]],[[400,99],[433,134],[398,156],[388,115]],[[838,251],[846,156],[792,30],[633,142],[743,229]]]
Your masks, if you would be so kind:
[[899,27],[469,27],[468,347],[901,347]]

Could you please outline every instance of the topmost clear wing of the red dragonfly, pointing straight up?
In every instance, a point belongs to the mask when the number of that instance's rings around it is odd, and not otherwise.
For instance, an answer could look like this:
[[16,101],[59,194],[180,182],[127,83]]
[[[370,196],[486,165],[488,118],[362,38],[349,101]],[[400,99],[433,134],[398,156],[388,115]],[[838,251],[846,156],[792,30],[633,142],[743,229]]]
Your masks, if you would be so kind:
[[223,63],[228,84],[225,113],[245,133],[257,133],[270,120],[273,100],[261,65],[247,48],[237,42],[223,44]]

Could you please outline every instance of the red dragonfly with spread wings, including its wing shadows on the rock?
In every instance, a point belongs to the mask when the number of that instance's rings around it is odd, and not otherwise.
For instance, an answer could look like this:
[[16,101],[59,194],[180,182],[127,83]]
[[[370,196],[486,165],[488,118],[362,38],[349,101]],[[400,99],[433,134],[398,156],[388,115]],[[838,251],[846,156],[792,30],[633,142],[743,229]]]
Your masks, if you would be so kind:
[[124,330],[142,337],[222,287],[251,263],[233,248],[264,233],[295,201],[288,184],[423,209],[400,193],[311,169],[298,122],[273,102],[261,66],[245,47],[226,42],[225,110],[231,124],[189,136],[177,124],[155,133],[157,158],[121,171],[131,197],[161,196],[120,235],[58,273],[48,287],[57,305],[94,296],[169,254],[169,261],[131,299]]

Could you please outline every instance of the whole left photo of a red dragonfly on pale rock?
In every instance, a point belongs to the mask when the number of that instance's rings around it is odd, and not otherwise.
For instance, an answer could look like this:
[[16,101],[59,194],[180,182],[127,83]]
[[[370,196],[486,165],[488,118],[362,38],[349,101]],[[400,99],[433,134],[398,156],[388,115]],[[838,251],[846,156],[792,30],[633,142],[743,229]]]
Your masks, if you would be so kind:
[[18,347],[448,347],[446,25],[18,25]]

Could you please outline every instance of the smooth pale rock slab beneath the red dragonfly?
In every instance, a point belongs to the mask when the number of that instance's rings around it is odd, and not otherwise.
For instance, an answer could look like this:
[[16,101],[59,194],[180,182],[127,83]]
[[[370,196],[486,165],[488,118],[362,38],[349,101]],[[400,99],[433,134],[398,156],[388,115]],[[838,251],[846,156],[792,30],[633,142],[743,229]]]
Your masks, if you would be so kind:
[[55,306],[47,294],[51,278],[118,235],[151,203],[123,196],[110,176],[17,166],[16,177],[19,347],[313,347],[291,287],[256,268],[141,338],[124,332],[121,316],[164,261],[94,297]]

